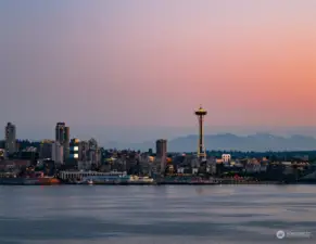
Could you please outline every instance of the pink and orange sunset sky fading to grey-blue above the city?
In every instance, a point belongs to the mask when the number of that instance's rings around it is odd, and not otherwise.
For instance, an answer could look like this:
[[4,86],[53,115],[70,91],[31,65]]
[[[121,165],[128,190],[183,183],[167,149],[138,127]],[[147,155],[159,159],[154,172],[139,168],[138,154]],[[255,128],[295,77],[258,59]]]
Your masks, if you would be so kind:
[[202,104],[211,133],[314,128],[315,16],[315,0],[0,0],[1,123],[147,140],[197,132]]

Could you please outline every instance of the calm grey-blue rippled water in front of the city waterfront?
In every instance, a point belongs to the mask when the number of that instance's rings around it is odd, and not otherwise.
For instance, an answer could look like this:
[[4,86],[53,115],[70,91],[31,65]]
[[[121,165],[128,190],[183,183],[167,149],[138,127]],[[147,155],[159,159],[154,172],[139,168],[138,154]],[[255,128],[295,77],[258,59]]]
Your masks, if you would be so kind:
[[[278,240],[278,230],[313,237]],[[314,243],[314,185],[0,185],[0,243]]]

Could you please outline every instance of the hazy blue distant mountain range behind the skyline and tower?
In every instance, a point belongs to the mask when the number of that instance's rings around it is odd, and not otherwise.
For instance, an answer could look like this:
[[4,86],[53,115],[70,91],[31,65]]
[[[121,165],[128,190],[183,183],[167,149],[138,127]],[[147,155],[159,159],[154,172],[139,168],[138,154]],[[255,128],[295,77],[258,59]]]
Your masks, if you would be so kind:
[[[236,151],[316,151],[316,139],[306,136],[280,137],[269,133],[256,133],[245,137],[232,133],[207,134],[205,136],[206,150],[236,150]],[[155,150],[155,142],[143,143],[118,143],[110,142],[105,147],[135,149],[147,151]],[[193,152],[198,147],[198,136],[179,137],[168,141],[169,152]]]

